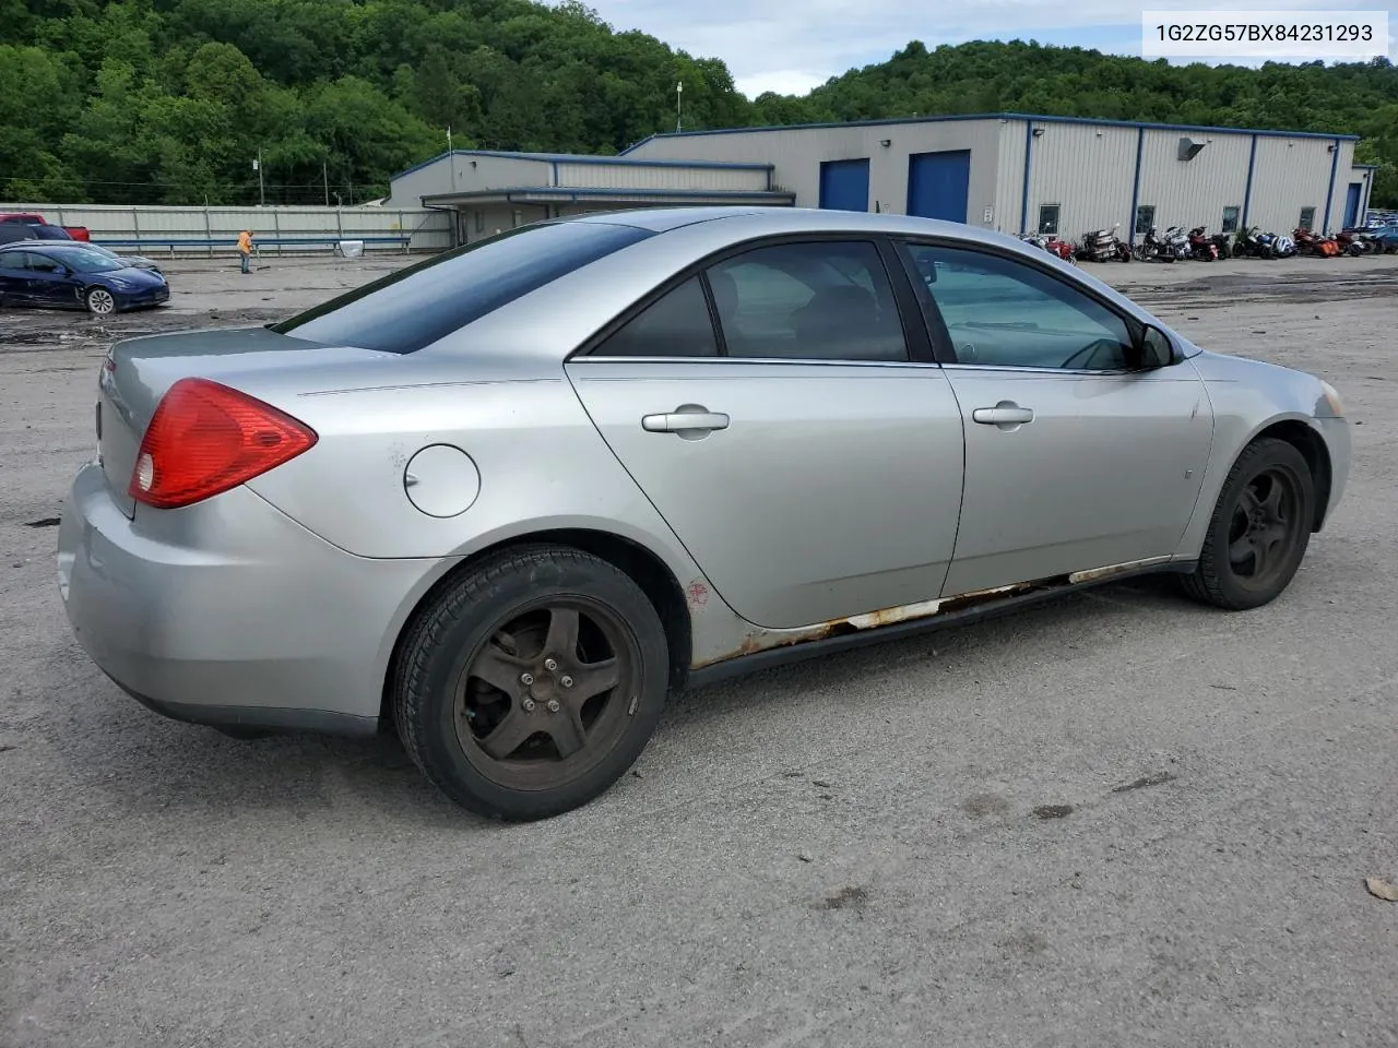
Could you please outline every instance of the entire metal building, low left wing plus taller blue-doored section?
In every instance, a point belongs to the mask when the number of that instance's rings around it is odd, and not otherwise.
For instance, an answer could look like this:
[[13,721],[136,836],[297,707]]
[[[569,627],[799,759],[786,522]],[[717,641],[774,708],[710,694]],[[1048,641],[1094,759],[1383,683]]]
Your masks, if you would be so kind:
[[394,177],[393,207],[457,212],[461,240],[538,218],[670,204],[889,211],[1068,239],[1117,226],[1363,222],[1356,136],[993,113],[656,134],[621,157],[456,151]]

